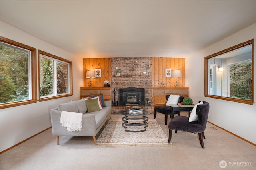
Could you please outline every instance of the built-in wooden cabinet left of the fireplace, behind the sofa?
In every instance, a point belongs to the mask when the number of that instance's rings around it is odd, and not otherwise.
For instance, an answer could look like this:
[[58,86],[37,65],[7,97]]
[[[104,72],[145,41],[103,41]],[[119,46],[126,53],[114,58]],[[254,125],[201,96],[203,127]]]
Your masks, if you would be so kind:
[[111,87],[80,87],[80,99],[85,98],[87,96],[91,96],[91,94],[102,94],[104,95],[104,100],[111,100],[112,98],[112,88]]

